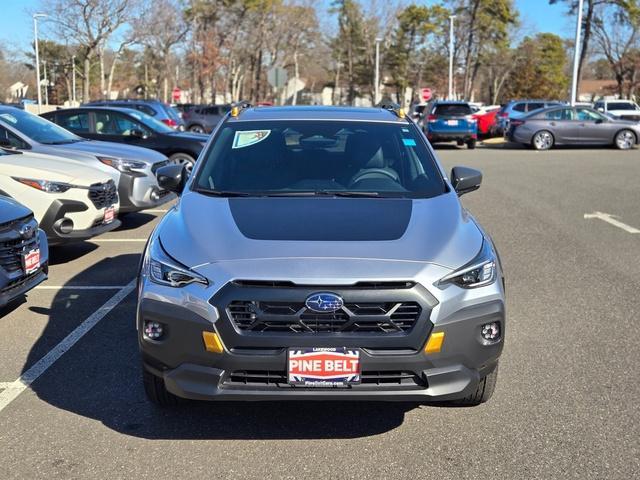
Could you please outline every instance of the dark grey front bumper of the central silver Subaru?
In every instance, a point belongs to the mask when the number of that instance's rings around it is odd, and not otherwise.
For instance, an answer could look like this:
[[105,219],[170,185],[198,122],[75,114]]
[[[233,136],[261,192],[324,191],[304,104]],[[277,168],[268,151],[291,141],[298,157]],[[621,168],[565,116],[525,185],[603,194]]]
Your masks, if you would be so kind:
[[[495,368],[503,347],[504,303],[495,299],[455,311],[435,325],[429,318],[432,310],[425,311],[409,335],[264,332],[253,336],[240,333],[219,308],[220,318],[212,323],[202,316],[204,311],[159,298],[142,298],[138,304],[143,366],[163,378],[173,394],[196,400],[454,400],[475,390]],[[162,341],[144,336],[145,320],[163,324]],[[480,336],[481,327],[495,321],[500,322],[502,335],[489,344]],[[203,331],[220,335],[223,353],[206,351]],[[424,345],[433,332],[444,332],[444,344],[440,352],[426,354]],[[360,348],[363,383],[329,389],[288,385],[287,347],[301,346]],[[381,376],[397,376],[398,381],[376,382]]]

